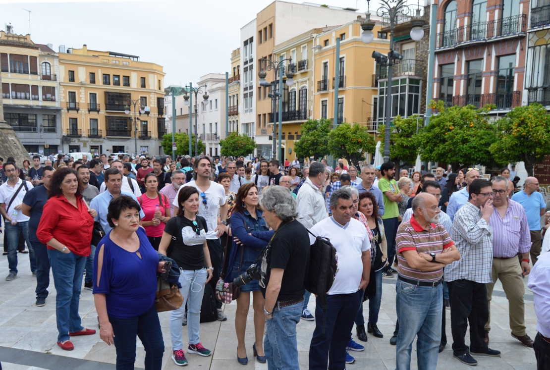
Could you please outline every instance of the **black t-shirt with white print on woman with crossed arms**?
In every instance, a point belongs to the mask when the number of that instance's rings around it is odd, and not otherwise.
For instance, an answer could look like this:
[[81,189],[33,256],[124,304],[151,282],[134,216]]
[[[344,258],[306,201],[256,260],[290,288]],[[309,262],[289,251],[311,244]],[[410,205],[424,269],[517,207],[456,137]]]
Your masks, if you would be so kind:
[[172,235],[168,248],[172,252],[168,253],[168,257],[172,258],[178,267],[184,270],[200,270],[206,267],[202,246],[206,241],[208,227],[206,220],[201,216],[197,216],[196,222],[201,235],[197,235],[193,221],[185,217],[172,217],[164,228],[164,232]]

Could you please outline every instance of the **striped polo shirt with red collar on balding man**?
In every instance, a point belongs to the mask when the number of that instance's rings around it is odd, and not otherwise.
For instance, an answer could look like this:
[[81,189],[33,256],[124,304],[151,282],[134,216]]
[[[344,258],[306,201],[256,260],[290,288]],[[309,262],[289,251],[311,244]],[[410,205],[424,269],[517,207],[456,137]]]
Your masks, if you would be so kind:
[[439,254],[445,248],[452,246],[454,242],[450,239],[449,233],[442,224],[431,223],[430,229],[425,230],[412,216],[410,220],[399,226],[395,239],[395,254],[399,261],[397,265],[399,276],[420,281],[437,281],[443,277],[443,268],[434,271],[417,270],[410,267],[403,256],[404,251]]

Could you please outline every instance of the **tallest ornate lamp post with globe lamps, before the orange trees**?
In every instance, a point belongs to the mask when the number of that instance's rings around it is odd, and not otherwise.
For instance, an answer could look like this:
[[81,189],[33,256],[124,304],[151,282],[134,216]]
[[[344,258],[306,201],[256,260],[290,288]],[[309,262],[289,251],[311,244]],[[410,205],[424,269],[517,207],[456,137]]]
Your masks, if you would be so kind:
[[[367,0],[368,1],[368,0]],[[378,16],[387,16],[389,18],[389,52],[387,56],[379,53],[377,51],[372,52],[372,58],[382,66],[388,67],[388,82],[386,82],[386,134],[384,135],[384,162],[389,161],[389,135],[391,133],[390,124],[391,124],[391,113],[392,113],[392,73],[393,65],[399,63],[403,59],[403,56],[398,52],[395,52],[393,49],[393,29],[397,17],[399,15],[408,15],[410,13],[410,8],[405,4],[406,0],[380,0],[380,7],[376,11]],[[375,26],[375,23],[370,19],[370,12],[366,13],[366,19],[361,23],[361,28],[363,30],[361,34],[361,41],[363,43],[371,43],[374,39],[374,34],[372,29]],[[412,29],[410,31],[410,37],[414,41],[419,41],[424,36],[424,30],[422,26],[425,24],[425,21],[420,18],[420,9],[416,11],[416,17],[412,18],[411,25]]]

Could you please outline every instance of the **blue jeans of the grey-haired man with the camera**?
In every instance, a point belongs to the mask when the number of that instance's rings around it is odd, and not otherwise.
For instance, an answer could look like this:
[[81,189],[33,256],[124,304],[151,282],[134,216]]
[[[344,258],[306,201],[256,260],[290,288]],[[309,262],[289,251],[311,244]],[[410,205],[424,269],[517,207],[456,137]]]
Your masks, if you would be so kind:
[[280,308],[278,303],[273,317],[266,319],[266,338],[263,350],[269,370],[294,370],[298,366],[296,324],[300,322],[302,302]]

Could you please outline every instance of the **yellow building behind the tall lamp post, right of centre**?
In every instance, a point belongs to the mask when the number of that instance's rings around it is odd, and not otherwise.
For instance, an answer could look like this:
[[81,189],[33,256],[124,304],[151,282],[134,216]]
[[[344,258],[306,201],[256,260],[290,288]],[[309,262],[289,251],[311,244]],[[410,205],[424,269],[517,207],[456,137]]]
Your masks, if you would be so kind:
[[313,56],[315,94],[313,119],[334,118],[336,38],[340,38],[340,66],[338,89],[338,123],[360,123],[376,131],[377,79],[379,70],[372,52],[387,54],[389,35],[381,32],[381,23],[375,20],[374,40],[361,42],[361,19],[323,32],[315,39],[318,51]]

